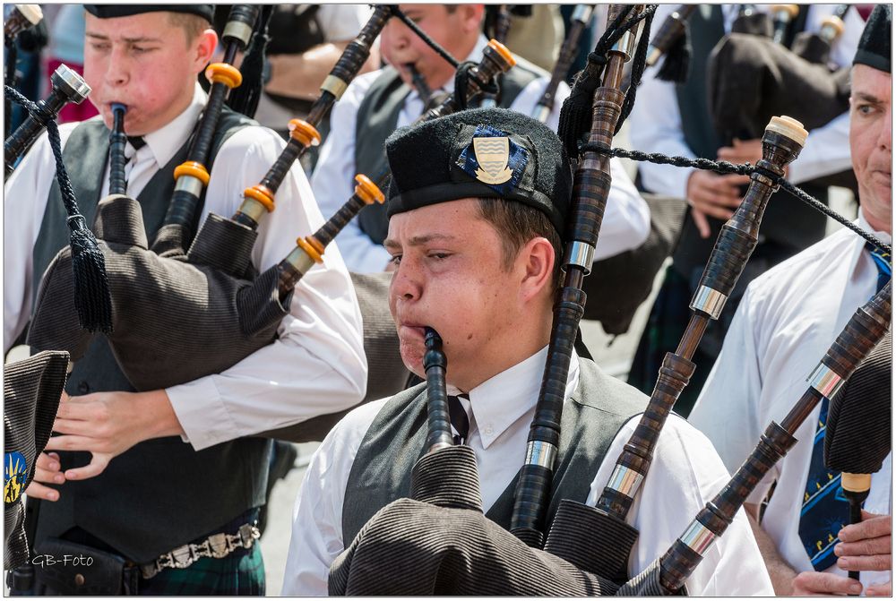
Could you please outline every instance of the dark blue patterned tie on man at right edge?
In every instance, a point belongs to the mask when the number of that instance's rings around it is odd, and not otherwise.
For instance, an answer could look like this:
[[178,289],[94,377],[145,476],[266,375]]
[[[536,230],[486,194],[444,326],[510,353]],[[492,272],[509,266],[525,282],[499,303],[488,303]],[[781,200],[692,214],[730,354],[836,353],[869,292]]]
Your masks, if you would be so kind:
[[[880,292],[890,281],[890,253],[870,243],[866,244],[866,249],[877,266],[877,292]],[[840,542],[837,533],[843,528],[844,519],[849,516],[849,502],[840,488],[840,472],[824,467],[824,430],[828,422],[828,404],[827,397],[824,397],[818,427],[815,429],[803,508],[799,514],[799,537],[815,571],[827,570],[837,561],[837,556],[833,554],[834,545]]]

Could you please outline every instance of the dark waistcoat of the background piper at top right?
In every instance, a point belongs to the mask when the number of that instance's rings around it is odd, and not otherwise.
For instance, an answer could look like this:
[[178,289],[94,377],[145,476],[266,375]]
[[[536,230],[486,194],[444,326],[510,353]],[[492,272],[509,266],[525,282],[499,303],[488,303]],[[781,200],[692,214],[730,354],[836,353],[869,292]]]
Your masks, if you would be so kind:
[[[724,141],[719,139],[711,125],[709,95],[706,90],[706,71],[712,49],[725,35],[721,7],[718,4],[701,4],[694,13],[691,13],[688,22],[690,23],[691,44],[694,48],[691,56],[691,73],[687,82],[676,85],[682,132],[685,134],[685,142],[696,156],[715,160]],[[805,23],[806,7],[804,6],[801,7],[799,15],[788,28],[788,35],[785,38],[787,46],[793,42],[797,32],[805,27]],[[737,77],[736,73],[732,75]],[[800,187],[818,200],[827,203],[826,187],[811,183],[800,185]],[[744,187],[743,190],[745,191],[746,188]],[[702,238],[690,211],[685,213],[681,238],[673,254],[673,267],[685,279],[691,281],[693,289],[695,289],[697,279],[700,278],[703,266],[710,258],[716,236],[725,223],[723,219],[712,217],[707,219],[709,219],[712,233],[710,237]],[[784,256],[780,256],[781,253],[772,252],[775,258],[771,264],[821,240],[824,237],[824,225],[825,217],[822,213],[799,202],[787,192],[780,191],[772,194],[762,218],[760,236],[780,245],[785,252]],[[757,249],[757,253],[761,255],[762,249]],[[745,277],[741,277],[734,293],[735,296],[743,294],[750,279],[749,273],[745,273]]]

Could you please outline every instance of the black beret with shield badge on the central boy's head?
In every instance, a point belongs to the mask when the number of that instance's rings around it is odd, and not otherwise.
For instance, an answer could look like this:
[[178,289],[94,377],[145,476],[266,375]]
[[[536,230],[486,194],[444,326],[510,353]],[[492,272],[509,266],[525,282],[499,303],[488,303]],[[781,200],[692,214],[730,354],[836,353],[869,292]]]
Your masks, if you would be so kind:
[[402,127],[386,140],[387,212],[462,198],[503,198],[547,214],[563,236],[573,176],[547,125],[504,108],[477,108]]

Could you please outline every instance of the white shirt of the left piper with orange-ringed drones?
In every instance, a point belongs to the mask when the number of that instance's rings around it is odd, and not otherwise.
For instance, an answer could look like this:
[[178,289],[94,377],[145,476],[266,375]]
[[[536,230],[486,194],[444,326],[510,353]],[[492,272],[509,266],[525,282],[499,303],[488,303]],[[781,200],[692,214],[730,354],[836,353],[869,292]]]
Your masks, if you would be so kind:
[[[205,99],[197,84],[193,102],[180,116],[143,136],[146,145],[137,152],[129,195],[136,198],[184,144]],[[75,125],[60,126],[63,145]],[[233,134],[211,169],[200,222],[210,212],[233,215],[243,190],[261,180],[283,148],[284,142],[267,128],[246,127]],[[31,281],[31,252],[39,242],[54,169],[44,133],[4,186],[4,352],[30,318],[38,285]],[[108,166],[102,195],[107,192]],[[300,166],[289,170],[276,200],[277,208],[263,219],[252,252],[259,271],[287,256],[297,236],[323,224]],[[335,246],[323,257],[323,266],[314,266],[299,282],[278,339],[221,373],[166,390],[185,438],[197,451],[351,407],[364,395],[367,365],[358,300]]]

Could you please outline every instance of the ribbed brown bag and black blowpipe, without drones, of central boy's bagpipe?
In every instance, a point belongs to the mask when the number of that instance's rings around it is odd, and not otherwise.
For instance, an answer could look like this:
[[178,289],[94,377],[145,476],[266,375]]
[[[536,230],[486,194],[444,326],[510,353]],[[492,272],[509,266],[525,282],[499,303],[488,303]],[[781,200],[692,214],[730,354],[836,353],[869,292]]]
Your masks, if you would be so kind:
[[425,344],[426,452],[409,498],[378,511],[337,557],[329,594],[630,595],[565,561],[550,539],[533,549],[485,518],[476,455],[452,443],[442,339],[426,328]]

